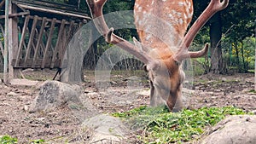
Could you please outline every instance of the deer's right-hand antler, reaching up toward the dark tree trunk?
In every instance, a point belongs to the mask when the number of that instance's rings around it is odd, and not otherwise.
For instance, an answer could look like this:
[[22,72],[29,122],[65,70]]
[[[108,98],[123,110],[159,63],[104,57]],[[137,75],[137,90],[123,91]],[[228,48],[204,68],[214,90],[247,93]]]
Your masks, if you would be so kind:
[[189,32],[183,38],[183,42],[180,44],[177,54],[173,55],[172,59],[180,62],[189,57],[196,58],[201,57],[202,55],[206,55],[208,50],[208,43],[205,45],[204,49],[198,52],[188,52],[189,45],[194,40],[195,35],[197,32],[199,32],[201,27],[207,23],[207,20],[209,20],[213,14],[222,9],[225,9],[228,4],[229,0],[224,0],[223,2],[220,2],[220,0],[211,0],[207,6],[207,9],[203,11],[197,20],[195,20],[195,23],[193,26],[191,26]]

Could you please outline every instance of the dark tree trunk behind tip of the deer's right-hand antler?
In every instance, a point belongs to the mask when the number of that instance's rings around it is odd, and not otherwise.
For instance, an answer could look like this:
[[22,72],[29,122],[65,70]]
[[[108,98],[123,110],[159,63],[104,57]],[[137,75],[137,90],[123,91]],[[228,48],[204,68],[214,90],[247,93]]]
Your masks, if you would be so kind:
[[223,57],[221,49],[221,19],[220,13],[214,14],[210,20],[210,39],[211,39],[211,72],[224,73]]

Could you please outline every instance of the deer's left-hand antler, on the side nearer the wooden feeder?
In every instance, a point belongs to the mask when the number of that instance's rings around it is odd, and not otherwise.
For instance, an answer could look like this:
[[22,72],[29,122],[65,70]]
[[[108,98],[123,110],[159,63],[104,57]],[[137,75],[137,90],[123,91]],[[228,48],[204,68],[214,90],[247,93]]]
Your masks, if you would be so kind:
[[135,55],[147,65],[148,69],[154,70],[160,66],[159,60],[152,59],[143,49],[113,34],[113,28],[108,28],[102,14],[102,7],[107,0],[86,0],[86,2],[89,5],[96,29],[105,37],[106,42],[116,44],[121,49],[125,49],[127,52]]

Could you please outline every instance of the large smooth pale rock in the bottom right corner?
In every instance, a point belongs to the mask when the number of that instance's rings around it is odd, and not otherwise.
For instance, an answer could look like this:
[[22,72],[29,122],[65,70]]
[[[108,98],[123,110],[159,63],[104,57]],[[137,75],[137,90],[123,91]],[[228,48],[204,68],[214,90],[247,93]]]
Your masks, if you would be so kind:
[[254,144],[256,143],[256,116],[230,116],[219,122],[203,144]]

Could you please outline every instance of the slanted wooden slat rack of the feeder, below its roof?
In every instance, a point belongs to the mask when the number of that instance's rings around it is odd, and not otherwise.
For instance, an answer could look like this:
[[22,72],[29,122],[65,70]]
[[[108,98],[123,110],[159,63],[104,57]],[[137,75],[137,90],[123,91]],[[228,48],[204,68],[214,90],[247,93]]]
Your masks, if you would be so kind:
[[[29,23],[32,23],[32,26]],[[64,55],[67,44],[79,26],[82,26],[81,23],[76,23],[74,20],[57,20],[38,15],[26,15],[20,32],[17,55],[12,60],[12,66],[15,68],[61,67],[65,62]],[[29,38],[27,38],[28,36]]]

